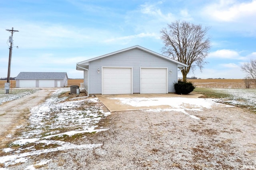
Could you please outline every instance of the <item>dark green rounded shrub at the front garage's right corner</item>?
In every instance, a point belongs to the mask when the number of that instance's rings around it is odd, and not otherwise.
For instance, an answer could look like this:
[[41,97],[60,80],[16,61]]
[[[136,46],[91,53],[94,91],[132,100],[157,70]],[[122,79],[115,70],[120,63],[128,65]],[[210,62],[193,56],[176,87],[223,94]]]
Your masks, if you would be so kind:
[[174,83],[174,89],[176,94],[189,94],[192,92],[196,87],[192,82],[182,82],[178,81]]

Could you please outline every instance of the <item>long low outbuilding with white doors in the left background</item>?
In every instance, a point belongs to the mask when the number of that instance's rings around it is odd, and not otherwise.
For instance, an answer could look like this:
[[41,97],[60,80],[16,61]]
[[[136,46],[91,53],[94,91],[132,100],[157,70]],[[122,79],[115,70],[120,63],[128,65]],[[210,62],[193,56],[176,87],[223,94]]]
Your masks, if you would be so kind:
[[20,72],[15,80],[20,88],[68,86],[66,72]]

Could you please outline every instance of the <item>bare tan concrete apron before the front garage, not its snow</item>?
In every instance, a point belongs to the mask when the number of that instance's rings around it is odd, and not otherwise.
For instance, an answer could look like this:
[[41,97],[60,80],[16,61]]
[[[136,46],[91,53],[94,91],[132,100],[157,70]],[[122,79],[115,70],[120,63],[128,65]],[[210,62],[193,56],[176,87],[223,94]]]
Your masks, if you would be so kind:
[[[167,109],[169,105],[155,104],[154,106],[132,106],[122,103],[122,99],[132,98],[136,101],[136,98],[150,99],[152,98],[198,98],[202,94],[190,93],[188,95],[178,94],[114,94],[114,95],[96,95],[96,97],[108,108],[110,112],[114,111],[127,111],[127,110],[145,110],[145,109]],[[145,99],[145,100],[146,100]]]

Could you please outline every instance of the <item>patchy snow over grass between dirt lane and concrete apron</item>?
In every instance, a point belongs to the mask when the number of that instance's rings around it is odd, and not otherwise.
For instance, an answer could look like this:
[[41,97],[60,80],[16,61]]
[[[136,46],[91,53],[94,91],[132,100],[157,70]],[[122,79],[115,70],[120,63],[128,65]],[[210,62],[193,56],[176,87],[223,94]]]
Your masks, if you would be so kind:
[[[6,155],[0,157],[0,164],[4,164],[7,167],[19,162],[26,162],[27,156],[59,150],[90,149],[102,145],[75,145],[50,139],[64,135],[72,136],[78,133],[96,133],[107,130],[95,129],[97,128],[95,124],[110,114],[109,112],[104,112],[100,106],[97,106],[98,98],[77,101],[64,101],[66,98],[58,98],[60,94],[68,90],[69,88],[55,90],[43,104],[30,109],[29,124],[25,127],[16,127],[17,129],[24,128],[25,130],[22,131],[22,134],[16,138],[16,141],[10,147],[2,149]],[[7,137],[14,138],[12,135]],[[56,147],[37,150],[34,146],[38,144],[45,146],[56,145]],[[17,145],[20,146],[18,149],[11,148]],[[27,169],[32,168],[28,167]]]

